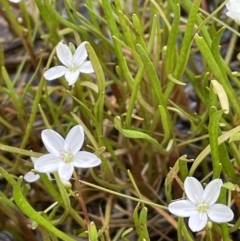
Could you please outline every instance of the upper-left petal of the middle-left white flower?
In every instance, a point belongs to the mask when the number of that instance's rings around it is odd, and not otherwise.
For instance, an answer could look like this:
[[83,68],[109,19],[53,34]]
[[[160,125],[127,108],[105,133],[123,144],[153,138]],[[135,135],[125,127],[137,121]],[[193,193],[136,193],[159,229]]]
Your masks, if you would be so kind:
[[64,139],[54,130],[43,130],[42,141],[46,149],[52,154],[59,155],[64,150]]

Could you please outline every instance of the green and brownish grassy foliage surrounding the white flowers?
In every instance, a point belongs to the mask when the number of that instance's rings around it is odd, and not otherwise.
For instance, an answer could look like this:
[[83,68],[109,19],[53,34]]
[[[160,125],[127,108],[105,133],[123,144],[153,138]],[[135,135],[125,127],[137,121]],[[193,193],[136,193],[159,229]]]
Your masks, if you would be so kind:
[[[185,198],[183,182],[193,175],[223,179],[219,201],[235,205],[237,219],[240,34],[224,15],[226,1],[209,1],[211,14],[201,2],[1,1],[8,36],[0,44],[0,233],[31,241],[195,240],[167,211]],[[61,64],[60,41],[72,51],[87,41],[94,74],[81,73],[73,86],[64,77],[47,81],[44,72]],[[47,152],[41,131],[65,137],[76,124],[101,166],[78,169],[68,188],[57,173],[23,181],[30,157]],[[214,224],[202,240],[233,239],[239,227],[239,220]]]

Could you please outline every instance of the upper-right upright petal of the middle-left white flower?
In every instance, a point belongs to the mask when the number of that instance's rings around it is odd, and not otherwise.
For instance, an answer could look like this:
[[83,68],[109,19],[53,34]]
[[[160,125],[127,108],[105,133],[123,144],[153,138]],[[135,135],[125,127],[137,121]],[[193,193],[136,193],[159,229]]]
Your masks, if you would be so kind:
[[67,134],[64,141],[64,150],[71,151],[75,155],[84,142],[84,131],[81,125],[74,126]]

